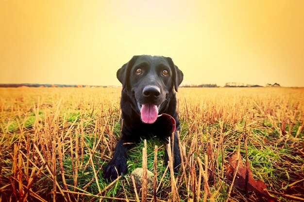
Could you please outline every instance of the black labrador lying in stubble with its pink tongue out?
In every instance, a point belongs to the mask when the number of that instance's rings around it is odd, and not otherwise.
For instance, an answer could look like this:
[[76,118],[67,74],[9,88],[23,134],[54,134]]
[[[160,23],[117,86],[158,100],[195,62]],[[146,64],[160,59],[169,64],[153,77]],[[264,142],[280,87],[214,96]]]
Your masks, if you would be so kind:
[[[117,71],[117,78],[122,84],[120,140],[112,160],[104,170],[104,177],[115,180],[127,172],[127,147],[130,142],[137,142],[140,137],[154,135],[161,139],[171,136],[172,123],[166,116],[174,118],[176,130],[180,129],[176,112],[178,86],[184,75],[174,65],[171,58],[163,56],[134,56]],[[170,117],[169,116],[169,117]],[[167,139],[168,140],[168,139]],[[181,164],[177,133],[174,131],[174,171]],[[169,157],[166,153],[166,162]]]

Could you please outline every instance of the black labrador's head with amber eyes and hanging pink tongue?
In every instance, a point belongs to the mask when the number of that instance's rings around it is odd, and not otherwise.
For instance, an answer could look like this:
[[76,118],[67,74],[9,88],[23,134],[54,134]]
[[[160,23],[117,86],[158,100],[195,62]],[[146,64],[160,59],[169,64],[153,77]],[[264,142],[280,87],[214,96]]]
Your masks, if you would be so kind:
[[158,111],[169,93],[177,91],[183,72],[171,58],[163,56],[134,56],[117,71],[123,90],[132,94],[143,123],[156,121]]

